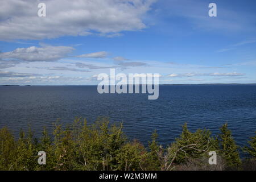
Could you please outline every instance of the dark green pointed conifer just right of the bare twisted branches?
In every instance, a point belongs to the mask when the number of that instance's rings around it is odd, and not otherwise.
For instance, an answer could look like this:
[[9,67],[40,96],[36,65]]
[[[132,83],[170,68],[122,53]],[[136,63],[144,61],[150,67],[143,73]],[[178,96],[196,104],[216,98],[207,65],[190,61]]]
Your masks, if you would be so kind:
[[221,133],[217,138],[220,145],[219,153],[224,158],[228,168],[237,168],[241,165],[241,159],[238,152],[238,146],[232,137],[231,131],[228,129],[228,124],[225,123],[220,131]]

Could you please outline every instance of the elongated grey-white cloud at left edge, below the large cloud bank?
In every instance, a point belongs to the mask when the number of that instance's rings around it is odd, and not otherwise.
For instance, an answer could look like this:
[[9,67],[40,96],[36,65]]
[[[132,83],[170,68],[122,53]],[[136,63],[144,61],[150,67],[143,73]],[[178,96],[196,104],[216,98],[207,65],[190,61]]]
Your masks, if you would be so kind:
[[66,57],[73,51],[69,46],[44,46],[16,48],[14,51],[0,53],[2,59],[15,59],[22,61],[56,61]]

